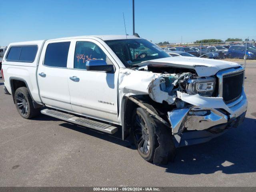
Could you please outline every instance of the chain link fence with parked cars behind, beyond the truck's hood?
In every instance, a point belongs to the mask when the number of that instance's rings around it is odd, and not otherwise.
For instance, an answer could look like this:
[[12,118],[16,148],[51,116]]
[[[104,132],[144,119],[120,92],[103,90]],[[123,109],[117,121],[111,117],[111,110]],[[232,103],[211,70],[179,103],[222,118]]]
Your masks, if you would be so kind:
[[171,56],[196,56],[239,63],[246,68],[256,67],[256,42],[216,42],[161,45]]

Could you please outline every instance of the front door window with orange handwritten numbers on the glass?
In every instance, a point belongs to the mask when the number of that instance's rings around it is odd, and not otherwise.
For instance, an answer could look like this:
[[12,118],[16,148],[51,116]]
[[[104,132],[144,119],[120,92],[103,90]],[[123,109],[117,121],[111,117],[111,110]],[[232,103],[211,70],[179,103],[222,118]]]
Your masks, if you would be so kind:
[[78,41],[74,56],[74,68],[86,69],[86,61],[93,59],[103,59],[107,64],[110,60],[101,48],[93,42]]

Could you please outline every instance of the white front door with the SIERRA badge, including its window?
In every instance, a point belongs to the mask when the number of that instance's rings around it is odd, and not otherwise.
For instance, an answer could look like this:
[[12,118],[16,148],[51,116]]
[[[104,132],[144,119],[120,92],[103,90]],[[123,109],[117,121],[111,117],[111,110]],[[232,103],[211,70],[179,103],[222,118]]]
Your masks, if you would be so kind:
[[[93,39],[78,39],[70,47],[73,67],[68,79],[70,102],[74,112],[92,118],[118,122],[118,65],[106,48]],[[103,59],[114,64],[115,72],[87,71],[86,61]]]

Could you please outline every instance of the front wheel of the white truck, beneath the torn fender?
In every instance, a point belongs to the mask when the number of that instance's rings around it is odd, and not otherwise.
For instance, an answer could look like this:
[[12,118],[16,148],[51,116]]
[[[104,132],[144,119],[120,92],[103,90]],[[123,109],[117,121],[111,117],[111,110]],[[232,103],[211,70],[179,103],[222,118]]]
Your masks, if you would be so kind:
[[140,156],[148,162],[153,161],[158,147],[154,125],[154,119],[144,109],[139,107],[133,111],[132,136]]

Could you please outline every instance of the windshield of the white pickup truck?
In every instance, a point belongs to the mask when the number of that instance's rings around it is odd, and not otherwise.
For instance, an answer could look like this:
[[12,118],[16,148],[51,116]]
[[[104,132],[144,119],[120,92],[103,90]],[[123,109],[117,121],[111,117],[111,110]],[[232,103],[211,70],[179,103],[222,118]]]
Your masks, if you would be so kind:
[[170,57],[162,48],[145,39],[108,40],[105,42],[127,68],[143,61]]

